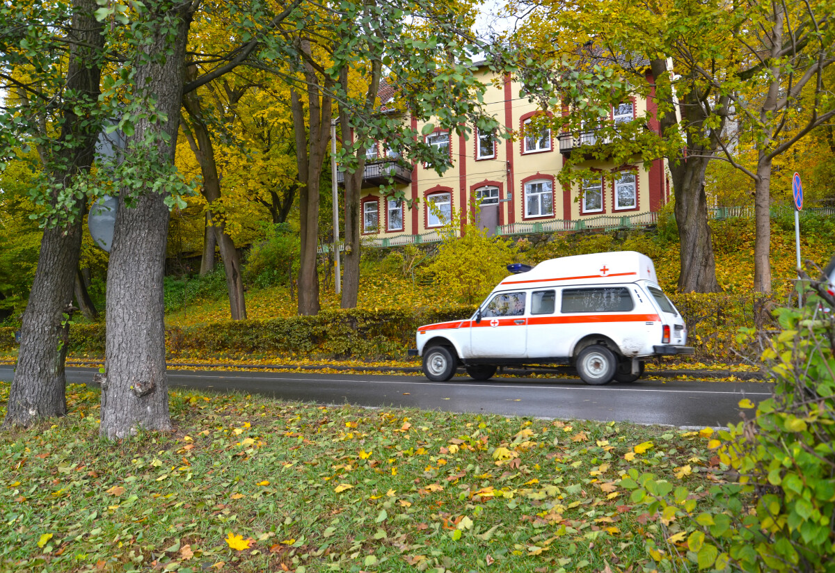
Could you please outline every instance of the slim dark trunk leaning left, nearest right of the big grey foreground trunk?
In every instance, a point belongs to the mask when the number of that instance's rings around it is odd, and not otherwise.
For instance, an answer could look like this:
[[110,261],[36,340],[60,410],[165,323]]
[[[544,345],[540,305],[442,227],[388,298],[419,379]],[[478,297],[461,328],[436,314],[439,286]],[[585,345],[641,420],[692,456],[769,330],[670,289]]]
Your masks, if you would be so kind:
[[[192,74],[195,72],[196,70],[191,71]],[[244,282],[240,276],[240,255],[235,249],[232,238],[226,234],[226,225],[222,216],[211,212],[212,204],[220,200],[220,178],[215,161],[215,145],[211,141],[209,128],[203,118],[203,109],[197,93],[186,93],[183,96],[183,105],[191,118],[191,128],[197,144],[193,150],[200,163],[200,172],[203,174],[203,195],[208,203],[207,209],[212,227],[215,229],[215,239],[220,246],[220,259],[223,259],[223,268],[226,271],[226,291],[229,294],[230,314],[232,320],[243,320],[246,318],[246,301]]]

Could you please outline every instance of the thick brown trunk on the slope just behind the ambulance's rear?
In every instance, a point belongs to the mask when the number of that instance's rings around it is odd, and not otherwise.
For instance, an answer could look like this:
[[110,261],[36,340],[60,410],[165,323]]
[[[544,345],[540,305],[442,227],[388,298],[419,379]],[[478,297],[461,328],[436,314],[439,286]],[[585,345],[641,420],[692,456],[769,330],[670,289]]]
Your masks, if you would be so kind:
[[[662,59],[653,60],[650,67],[656,79],[668,72],[666,61]],[[681,113],[686,127],[701,125],[704,120],[703,103],[698,96],[696,89],[691,89],[682,97]],[[662,135],[679,127],[675,111],[665,113],[658,119]],[[705,170],[707,162],[716,153],[718,139],[716,136],[711,137],[712,147],[704,147],[693,143],[690,135],[687,138],[690,153],[684,150],[681,154],[669,157],[680,240],[681,272],[678,289],[682,293],[716,293],[721,291],[721,287],[716,280],[711,228],[707,224]]]

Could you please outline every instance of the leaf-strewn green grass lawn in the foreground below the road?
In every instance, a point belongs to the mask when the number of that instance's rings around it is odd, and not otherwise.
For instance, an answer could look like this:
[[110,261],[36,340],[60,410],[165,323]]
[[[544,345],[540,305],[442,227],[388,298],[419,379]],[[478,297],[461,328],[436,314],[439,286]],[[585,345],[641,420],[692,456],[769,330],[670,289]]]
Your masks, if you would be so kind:
[[0,570],[653,570],[645,539],[686,559],[666,541],[686,524],[621,477],[696,497],[718,479],[711,430],[174,391],[170,409],[174,433],[105,442],[98,391],[72,385],[67,417],[0,434]]

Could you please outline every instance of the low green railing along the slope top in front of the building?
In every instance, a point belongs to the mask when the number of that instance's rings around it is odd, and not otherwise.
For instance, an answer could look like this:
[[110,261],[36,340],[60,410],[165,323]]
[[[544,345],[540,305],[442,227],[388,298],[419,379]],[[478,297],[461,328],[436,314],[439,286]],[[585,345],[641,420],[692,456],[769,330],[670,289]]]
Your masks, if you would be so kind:
[[[772,217],[779,214],[790,214],[792,207],[772,207]],[[802,213],[813,213],[820,215],[835,215],[835,207],[812,207],[803,209]],[[736,217],[753,217],[753,207],[717,207],[708,209],[708,219],[722,220]],[[585,229],[613,231],[615,229],[642,229],[658,223],[658,213],[638,213],[632,215],[599,215],[584,219],[550,219],[547,221],[534,221],[525,223],[516,222],[496,227],[497,235],[512,236],[539,233],[574,233]],[[438,243],[443,240],[443,235],[432,230],[423,234],[398,234],[391,237],[373,237],[362,239],[362,244],[369,247],[402,247],[406,244]],[[331,245],[326,244],[319,248],[320,253],[327,253]],[[340,245],[340,250],[343,247]]]

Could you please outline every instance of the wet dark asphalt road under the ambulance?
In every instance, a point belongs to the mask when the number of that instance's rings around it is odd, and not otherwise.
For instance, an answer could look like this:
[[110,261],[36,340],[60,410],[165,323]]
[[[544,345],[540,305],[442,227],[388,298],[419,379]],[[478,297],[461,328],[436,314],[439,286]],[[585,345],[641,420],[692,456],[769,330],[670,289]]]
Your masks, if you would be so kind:
[[[68,382],[86,384],[97,369],[69,368]],[[579,379],[496,378],[476,382],[453,378],[430,382],[416,376],[299,374],[169,370],[176,388],[240,392],[327,405],[413,407],[423,410],[482,412],[639,424],[725,426],[740,420],[738,402],[766,399],[771,385],[762,382],[701,380],[638,381],[607,386]],[[11,380],[12,366],[0,366],[0,379]]]

